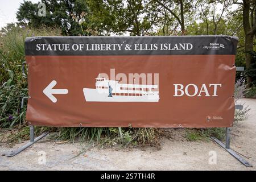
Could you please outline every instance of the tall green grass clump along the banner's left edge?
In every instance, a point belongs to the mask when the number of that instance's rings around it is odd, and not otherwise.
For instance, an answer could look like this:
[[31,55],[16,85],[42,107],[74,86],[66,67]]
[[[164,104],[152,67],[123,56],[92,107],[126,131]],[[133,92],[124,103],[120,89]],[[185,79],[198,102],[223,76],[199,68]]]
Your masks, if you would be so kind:
[[29,36],[60,35],[57,28],[39,29],[16,27],[9,24],[0,31],[0,127],[22,127],[26,105],[20,109],[22,98],[27,96],[27,77],[22,74],[24,40]]

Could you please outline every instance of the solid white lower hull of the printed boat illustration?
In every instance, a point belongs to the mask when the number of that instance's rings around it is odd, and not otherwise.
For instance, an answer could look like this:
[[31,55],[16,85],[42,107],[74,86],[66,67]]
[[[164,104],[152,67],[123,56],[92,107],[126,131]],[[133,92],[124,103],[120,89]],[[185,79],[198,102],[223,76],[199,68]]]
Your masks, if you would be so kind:
[[108,92],[98,92],[97,89],[84,88],[86,102],[158,102],[159,96],[115,96],[109,97]]

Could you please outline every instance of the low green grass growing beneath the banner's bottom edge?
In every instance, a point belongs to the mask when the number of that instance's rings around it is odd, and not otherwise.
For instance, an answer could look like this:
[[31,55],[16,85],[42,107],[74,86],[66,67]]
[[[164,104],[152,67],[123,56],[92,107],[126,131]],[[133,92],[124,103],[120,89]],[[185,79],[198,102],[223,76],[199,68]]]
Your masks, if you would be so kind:
[[100,146],[158,145],[159,129],[122,128],[121,134],[115,127],[61,127],[55,135],[56,139],[75,142],[87,142]]

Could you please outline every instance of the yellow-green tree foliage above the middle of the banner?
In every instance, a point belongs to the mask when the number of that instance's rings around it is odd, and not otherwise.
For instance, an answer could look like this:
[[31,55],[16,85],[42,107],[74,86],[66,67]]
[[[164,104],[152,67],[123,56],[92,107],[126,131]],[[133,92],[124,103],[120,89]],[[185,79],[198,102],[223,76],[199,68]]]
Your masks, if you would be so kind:
[[88,6],[92,22],[106,32],[147,35],[158,21],[160,7],[150,0],[91,0]]

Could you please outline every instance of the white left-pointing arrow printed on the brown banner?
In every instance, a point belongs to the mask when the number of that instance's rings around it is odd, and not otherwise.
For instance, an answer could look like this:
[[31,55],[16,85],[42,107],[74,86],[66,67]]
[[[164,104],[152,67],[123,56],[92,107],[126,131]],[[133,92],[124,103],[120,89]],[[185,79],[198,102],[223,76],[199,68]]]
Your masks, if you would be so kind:
[[68,89],[52,89],[53,86],[57,84],[57,81],[52,80],[52,82],[43,90],[43,93],[52,101],[57,102],[57,98],[53,94],[67,94]]

